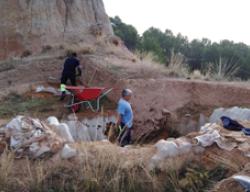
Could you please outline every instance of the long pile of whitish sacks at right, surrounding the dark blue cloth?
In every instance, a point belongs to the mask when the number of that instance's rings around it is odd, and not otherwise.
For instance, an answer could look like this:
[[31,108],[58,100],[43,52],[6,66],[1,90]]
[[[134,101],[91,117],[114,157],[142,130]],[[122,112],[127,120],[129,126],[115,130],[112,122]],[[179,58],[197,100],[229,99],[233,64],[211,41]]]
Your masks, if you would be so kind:
[[160,140],[155,144],[156,154],[151,158],[151,166],[157,167],[167,158],[184,154],[200,153],[206,147],[216,144],[222,150],[238,149],[245,157],[250,157],[250,136],[243,132],[229,131],[220,125],[220,117],[228,116],[234,120],[250,124],[250,109],[233,107],[214,110],[210,123],[201,126],[199,132],[190,133],[178,139]]

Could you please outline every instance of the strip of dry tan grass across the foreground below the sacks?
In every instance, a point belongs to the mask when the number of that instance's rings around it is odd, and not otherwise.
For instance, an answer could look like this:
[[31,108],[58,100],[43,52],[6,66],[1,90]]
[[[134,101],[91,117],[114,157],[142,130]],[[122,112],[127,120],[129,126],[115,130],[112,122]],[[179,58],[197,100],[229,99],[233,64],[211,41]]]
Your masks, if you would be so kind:
[[58,156],[49,160],[15,160],[13,153],[5,151],[0,157],[0,189],[6,192],[191,192],[204,191],[208,180],[218,176],[221,179],[225,173],[225,169],[213,172],[200,169],[190,161],[190,155],[166,160],[161,169],[150,169],[152,147],[127,149],[104,142],[79,143],[76,147],[79,156],[69,161]]

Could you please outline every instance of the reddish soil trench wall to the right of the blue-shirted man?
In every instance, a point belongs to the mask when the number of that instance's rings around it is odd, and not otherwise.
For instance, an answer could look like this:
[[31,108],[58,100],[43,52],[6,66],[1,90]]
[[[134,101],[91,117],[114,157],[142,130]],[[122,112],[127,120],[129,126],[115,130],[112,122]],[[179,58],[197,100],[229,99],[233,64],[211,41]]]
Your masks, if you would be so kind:
[[137,79],[124,86],[134,91],[134,139],[141,142],[197,131],[215,108],[250,106],[247,84]]

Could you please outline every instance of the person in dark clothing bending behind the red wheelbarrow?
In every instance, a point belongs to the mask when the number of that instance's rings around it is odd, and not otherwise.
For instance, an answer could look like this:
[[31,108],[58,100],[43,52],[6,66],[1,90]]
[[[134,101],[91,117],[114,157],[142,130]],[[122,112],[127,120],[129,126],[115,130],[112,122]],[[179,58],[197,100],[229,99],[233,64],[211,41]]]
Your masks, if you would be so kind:
[[[76,75],[76,69],[78,74]],[[62,77],[61,77],[61,87],[65,87],[68,79],[71,82],[71,85],[76,86],[76,76],[81,76],[82,71],[80,68],[80,62],[77,59],[77,54],[76,53],[72,53],[70,57],[68,57],[66,59],[66,61],[64,62],[64,66],[63,66],[63,72],[62,72]],[[62,95],[61,95],[61,99],[63,100],[65,98],[65,90],[61,90],[62,91]]]

